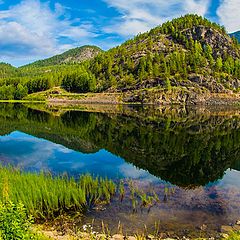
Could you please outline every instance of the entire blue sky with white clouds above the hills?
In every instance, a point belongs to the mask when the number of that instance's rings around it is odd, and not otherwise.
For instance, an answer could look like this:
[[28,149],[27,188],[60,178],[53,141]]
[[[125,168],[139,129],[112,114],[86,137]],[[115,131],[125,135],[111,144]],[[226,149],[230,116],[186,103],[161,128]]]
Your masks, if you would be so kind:
[[82,45],[104,50],[196,13],[240,30],[240,0],[0,0],[0,62],[14,66]]

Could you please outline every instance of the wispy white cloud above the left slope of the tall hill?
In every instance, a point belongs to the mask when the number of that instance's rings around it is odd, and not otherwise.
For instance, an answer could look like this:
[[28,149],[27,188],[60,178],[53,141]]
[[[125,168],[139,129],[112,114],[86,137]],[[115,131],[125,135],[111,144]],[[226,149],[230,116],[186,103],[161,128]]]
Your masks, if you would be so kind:
[[106,27],[105,31],[123,36],[145,32],[166,20],[187,13],[204,16],[210,4],[210,0],[104,0],[104,2],[122,15]]

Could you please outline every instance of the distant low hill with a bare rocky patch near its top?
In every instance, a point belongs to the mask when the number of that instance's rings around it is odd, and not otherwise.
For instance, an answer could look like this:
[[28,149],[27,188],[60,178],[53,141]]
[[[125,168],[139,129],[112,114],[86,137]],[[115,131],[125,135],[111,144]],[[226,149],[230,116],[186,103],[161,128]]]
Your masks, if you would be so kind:
[[24,67],[46,67],[60,64],[81,63],[85,60],[94,58],[100,52],[102,52],[102,50],[99,47],[86,45],[70,49],[62,54],[44,60],[36,61]]

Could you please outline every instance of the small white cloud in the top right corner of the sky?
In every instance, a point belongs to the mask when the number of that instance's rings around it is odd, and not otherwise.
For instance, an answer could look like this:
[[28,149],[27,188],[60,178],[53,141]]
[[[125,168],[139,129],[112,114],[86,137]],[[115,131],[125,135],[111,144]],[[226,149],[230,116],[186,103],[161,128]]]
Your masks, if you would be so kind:
[[224,25],[229,32],[240,30],[239,9],[239,0],[223,0],[217,10],[220,23]]

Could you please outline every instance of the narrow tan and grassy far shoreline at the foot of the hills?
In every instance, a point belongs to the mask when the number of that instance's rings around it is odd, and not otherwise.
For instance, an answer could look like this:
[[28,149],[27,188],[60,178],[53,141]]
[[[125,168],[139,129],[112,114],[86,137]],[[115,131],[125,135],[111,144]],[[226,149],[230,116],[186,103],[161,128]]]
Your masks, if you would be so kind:
[[[159,93],[158,93],[159,94]],[[69,105],[139,105],[139,106],[240,106],[240,95],[232,94],[203,94],[189,95],[183,99],[183,96],[161,95],[153,96],[149,99],[146,96],[142,101],[136,101],[131,98],[133,93],[127,95],[119,93],[87,93],[74,94],[69,96],[46,97],[43,100],[23,99],[23,100],[0,100],[0,103],[45,103],[51,105],[69,104]],[[74,97],[73,97],[74,96]],[[137,95],[135,95],[137,98]],[[138,96],[139,97],[139,96]],[[166,98],[167,97],[167,98]],[[130,101],[132,99],[132,101]]]

